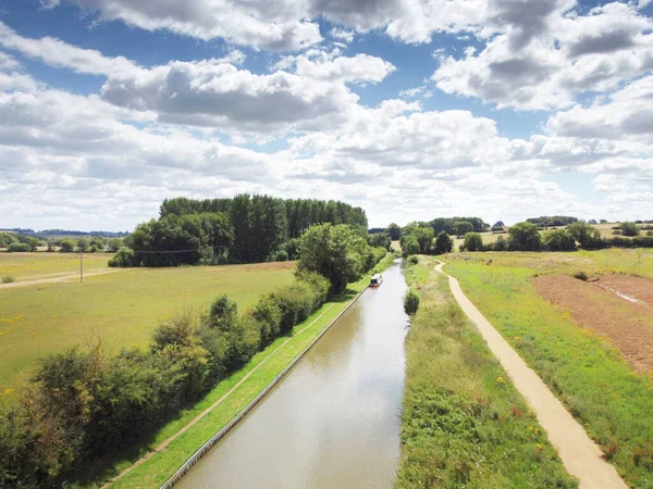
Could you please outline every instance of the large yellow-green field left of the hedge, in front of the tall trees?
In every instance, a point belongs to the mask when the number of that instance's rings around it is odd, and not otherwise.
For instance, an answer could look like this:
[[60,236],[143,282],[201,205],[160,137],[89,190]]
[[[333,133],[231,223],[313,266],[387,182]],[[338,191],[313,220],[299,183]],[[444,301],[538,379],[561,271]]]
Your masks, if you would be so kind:
[[0,394],[39,358],[96,334],[109,349],[146,347],[155,327],[181,308],[206,308],[221,293],[241,308],[252,305],[261,293],[289,284],[294,266],[133,268],[84,284],[0,287]]

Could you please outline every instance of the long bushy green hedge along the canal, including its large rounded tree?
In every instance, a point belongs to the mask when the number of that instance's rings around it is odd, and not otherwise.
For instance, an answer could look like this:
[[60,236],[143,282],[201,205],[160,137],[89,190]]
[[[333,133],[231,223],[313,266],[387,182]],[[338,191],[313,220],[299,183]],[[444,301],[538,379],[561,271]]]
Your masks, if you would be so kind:
[[145,351],[108,354],[98,341],[42,360],[17,402],[0,413],[0,487],[70,485],[291,334],[386,254],[349,226],[331,224],[309,228],[298,250],[293,284],[243,314],[220,296],[207,311],[186,310],[159,325]]

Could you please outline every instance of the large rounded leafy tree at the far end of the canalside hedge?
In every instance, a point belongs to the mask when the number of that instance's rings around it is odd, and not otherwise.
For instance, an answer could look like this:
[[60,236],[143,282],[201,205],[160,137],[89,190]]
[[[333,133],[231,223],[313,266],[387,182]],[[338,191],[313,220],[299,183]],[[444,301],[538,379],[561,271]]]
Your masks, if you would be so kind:
[[300,238],[297,268],[319,273],[331,283],[332,293],[338,293],[360,277],[370,254],[366,240],[349,226],[321,224]]

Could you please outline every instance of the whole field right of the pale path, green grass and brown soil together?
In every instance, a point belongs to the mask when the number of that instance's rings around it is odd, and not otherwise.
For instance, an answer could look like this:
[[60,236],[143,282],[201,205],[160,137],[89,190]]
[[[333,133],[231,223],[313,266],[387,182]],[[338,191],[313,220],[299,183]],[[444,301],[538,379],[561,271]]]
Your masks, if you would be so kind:
[[[642,287],[653,279],[653,252],[459,253],[443,261],[624,479],[653,487],[653,326]],[[579,272],[597,281],[569,277]],[[642,277],[641,303],[599,287],[632,293],[627,275]]]

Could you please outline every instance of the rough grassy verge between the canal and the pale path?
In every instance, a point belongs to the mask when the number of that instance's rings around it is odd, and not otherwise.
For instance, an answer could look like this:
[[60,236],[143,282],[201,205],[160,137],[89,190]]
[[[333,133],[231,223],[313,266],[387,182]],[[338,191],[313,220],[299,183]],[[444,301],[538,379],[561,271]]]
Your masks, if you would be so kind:
[[406,271],[420,308],[406,337],[396,487],[577,487],[433,265]]

